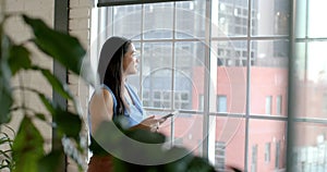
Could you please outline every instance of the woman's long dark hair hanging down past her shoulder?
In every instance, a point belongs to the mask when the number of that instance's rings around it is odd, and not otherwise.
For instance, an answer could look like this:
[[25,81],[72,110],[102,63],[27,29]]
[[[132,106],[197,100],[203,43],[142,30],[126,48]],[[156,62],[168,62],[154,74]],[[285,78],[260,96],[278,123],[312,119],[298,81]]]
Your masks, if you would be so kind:
[[117,99],[117,114],[123,114],[128,103],[123,98],[123,57],[129,51],[132,41],[124,37],[110,37],[100,52],[98,73],[100,84],[107,85]]

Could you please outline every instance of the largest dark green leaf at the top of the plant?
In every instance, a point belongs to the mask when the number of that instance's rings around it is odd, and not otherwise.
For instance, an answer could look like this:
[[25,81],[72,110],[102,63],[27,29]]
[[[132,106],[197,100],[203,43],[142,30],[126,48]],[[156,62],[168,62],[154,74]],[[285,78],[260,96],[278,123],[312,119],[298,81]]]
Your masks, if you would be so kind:
[[39,19],[27,15],[23,15],[23,19],[32,27],[35,35],[34,42],[41,51],[75,74],[80,74],[86,51],[78,39],[50,28]]

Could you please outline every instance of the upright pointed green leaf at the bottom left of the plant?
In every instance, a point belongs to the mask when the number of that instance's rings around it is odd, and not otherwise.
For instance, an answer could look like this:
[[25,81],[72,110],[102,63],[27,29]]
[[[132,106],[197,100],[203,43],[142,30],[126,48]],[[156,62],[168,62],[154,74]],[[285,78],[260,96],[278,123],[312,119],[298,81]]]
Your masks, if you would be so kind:
[[26,115],[21,122],[13,143],[14,172],[36,172],[38,160],[44,156],[44,138]]

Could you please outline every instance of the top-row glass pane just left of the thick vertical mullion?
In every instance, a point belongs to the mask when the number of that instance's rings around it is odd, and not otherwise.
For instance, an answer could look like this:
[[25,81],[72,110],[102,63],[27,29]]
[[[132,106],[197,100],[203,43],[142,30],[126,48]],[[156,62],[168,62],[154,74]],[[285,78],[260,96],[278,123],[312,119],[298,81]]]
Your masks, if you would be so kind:
[[177,38],[205,36],[205,4],[201,0],[175,3]]

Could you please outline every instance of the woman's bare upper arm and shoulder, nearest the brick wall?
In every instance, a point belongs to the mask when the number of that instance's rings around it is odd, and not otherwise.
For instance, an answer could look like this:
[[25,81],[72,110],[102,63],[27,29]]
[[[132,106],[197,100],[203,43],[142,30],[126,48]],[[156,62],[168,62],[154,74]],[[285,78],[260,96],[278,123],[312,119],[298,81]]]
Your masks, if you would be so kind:
[[113,100],[107,89],[95,93],[89,101],[89,113],[92,123],[92,134],[95,134],[97,127],[104,121],[112,121]]

